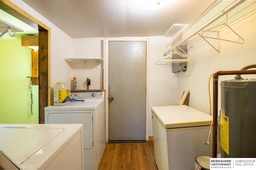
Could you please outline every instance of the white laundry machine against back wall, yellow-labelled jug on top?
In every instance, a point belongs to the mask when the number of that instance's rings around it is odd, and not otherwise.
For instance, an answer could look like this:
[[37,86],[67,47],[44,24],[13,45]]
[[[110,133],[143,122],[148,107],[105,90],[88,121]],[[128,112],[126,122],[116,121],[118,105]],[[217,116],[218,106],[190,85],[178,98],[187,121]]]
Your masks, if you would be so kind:
[[97,170],[105,150],[104,91],[72,92],[72,101],[66,106],[44,108],[46,124],[82,123],[84,145],[84,169]]

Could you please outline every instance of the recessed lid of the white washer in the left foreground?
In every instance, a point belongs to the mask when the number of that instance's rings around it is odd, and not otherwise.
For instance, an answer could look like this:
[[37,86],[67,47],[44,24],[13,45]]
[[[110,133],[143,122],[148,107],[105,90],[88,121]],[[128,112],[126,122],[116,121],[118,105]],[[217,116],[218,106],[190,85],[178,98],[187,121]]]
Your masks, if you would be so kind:
[[64,129],[40,129],[40,128],[0,128],[0,148],[16,164],[20,165],[46,143],[51,141]]

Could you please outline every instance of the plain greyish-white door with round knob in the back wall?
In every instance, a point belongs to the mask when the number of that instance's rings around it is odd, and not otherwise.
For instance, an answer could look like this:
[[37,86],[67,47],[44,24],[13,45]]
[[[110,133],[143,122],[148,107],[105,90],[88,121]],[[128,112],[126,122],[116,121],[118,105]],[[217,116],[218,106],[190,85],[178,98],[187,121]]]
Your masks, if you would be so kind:
[[109,141],[146,140],[146,41],[109,41]]

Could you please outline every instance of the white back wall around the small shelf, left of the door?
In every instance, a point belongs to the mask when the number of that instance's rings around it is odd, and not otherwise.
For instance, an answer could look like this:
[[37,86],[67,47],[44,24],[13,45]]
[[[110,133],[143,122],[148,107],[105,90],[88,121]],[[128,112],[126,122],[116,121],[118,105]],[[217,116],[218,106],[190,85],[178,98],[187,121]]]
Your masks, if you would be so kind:
[[[104,59],[104,38],[73,39],[73,57],[84,59]],[[86,61],[85,65],[83,62],[73,63],[72,68],[72,76],[77,79],[77,89],[87,88],[87,78],[91,80],[89,89],[102,89],[104,69],[103,61],[99,61],[98,63],[96,63],[96,61]]]

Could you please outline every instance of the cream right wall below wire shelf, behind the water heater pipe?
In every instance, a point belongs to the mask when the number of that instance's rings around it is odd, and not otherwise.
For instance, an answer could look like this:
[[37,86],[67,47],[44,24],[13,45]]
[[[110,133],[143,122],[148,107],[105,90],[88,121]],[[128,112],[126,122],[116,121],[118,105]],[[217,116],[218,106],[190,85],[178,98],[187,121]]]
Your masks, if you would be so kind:
[[[179,78],[179,96],[184,90],[190,90],[188,105],[208,114],[210,113],[208,97],[210,75],[216,71],[240,70],[244,66],[256,64],[256,14],[232,25],[231,28],[244,39],[244,44],[220,41],[220,53],[217,53],[205,41],[197,43],[192,48],[191,76],[180,76]],[[227,39],[236,37],[230,29],[221,31],[220,36]],[[234,79],[234,76],[219,76],[219,84],[221,80]],[[255,75],[242,75],[242,78],[248,77],[255,78]],[[212,78],[210,79],[210,92],[212,101]],[[220,106],[220,100],[218,102]]]

